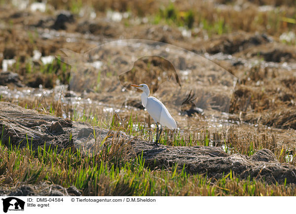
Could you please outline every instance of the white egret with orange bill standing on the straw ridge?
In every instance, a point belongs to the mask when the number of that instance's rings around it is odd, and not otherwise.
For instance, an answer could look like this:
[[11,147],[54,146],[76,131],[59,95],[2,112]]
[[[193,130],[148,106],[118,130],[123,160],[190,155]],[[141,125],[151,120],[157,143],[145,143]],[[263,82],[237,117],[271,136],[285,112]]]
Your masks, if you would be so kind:
[[[131,84],[131,86],[143,91],[141,95],[142,105],[147,109],[148,113],[153,118],[156,124],[156,141],[153,144],[158,146],[162,127],[165,126],[171,130],[174,130],[177,129],[177,123],[169,113],[168,109],[163,105],[163,103],[161,103],[157,98],[149,96],[150,90],[148,88],[148,85]],[[158,127],[158,123],[160,124],[160,129]]]

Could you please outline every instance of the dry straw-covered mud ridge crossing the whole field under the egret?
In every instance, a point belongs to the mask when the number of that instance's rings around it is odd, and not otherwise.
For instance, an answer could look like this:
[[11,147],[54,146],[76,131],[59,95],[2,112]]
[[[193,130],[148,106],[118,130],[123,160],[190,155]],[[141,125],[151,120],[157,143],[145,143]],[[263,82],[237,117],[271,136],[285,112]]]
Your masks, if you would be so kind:
[[[248,157],[239,153],[229,155],[216,146],[155,146],[123,132],[40,114],[37,111],[9,103],[0,102],[0,107],[2,141],[7,145],[9,139],[21,147],[26,147],[27,142],[23,139],[29,136],[33,149],[38,145],[44,147],[44,144],[47,147],[56,148],[57,152],[69,147],[73,149],[82,147],[81,151],[84,152],[84,155],[90,155],[94,151],[95,153],[100,152],[109,143],[121,143],[121,146],[127,146],[129,159],[143,155],[145,166],[151,170],[171,170],[177,165],[180,171],[184,167],[185,171],[191,175],[207,175],[213,179],[222,178],[223,175],[232,172],[234,176],[243,179],[255,178],[267,183],[296,184],[296,167],[287,163],[279,163],[275,155],[268,149],[261,149]],[[34,121],[34,124],[30,121]],[[70,134],[73,137],[69,142]],[[106,140],[102,144],[100,139]],[[44,188],[45,184],[40,185]],[[8,195],[19,195],[21,192],[25,195],[68,195],[70,189],[72,194],[79,193],[78,190],[74,191],[73,187],[68,189],[60,187],[59,189],[57,186],[47,185],[45,189],[48,190],[43,192],[37,187],[21,186],[11,190]],[[7,194],[6,191],[4,192]]]

